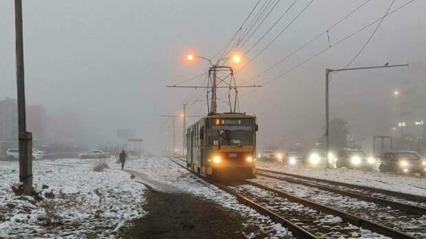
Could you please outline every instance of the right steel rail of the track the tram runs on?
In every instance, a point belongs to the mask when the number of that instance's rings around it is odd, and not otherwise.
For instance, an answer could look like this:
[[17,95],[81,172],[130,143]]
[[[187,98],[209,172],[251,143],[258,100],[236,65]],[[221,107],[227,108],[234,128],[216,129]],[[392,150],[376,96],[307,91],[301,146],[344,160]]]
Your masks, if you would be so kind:
[[390,227],[386,227],[384,225],[381,225],[379,223],[374,223],[371,220],[366,220],[364,218],[360,218],[359,216],[355,216],[354,214],[349,214],[347,212],[343,212],[339,209],[334,209],[333,207],[328,207],[325,205],[321,205],[319,203],[315,203],[313,201],[310,201],[305,198],[300,198],[298,196],[295,196],[293,194],[289,194],[287,192],[283,192],[281,190],[276,190],[271,187],[267,187],[265,185],[261,185],[259,183],[254,183],[252,181],[244,181],[244,183],[247,183],[249,185],[252,185],[254,187],[259,187],[262,190],[267,190],[269,192],[273,192],[275,194],[278,194],[278,196],[282,198],[287,198],[289,201],[293,201],[295,203],[300,203],[302,205],[305,205],[306,207],[311,207],[313,209],[317,209],[320,212],[323,212],[325,214],[333,214],[335,216],[339,216],[342,218],[342,220],[346,221],[347,223],[351,223],[352,225],[356,225],[358,227],[363,227],[364,229],[369,229],[370,231],[377,232],[378,234],[382,234],[384,236],[390,236],[391,238],[416,238],[415,236],[412,236],[410,234],[406,234],[405,232],[398,231],[395,229],[392,229]]

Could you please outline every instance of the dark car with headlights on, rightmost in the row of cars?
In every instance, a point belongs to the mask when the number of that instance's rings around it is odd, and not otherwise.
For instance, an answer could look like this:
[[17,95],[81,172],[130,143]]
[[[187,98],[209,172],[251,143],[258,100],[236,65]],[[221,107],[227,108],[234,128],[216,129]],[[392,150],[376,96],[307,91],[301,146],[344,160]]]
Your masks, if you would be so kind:
[[396,174],[418,172],[423,176],[426,175],[426,159],[416,151],[384,152],[379,160],[381,172],[396,172]]

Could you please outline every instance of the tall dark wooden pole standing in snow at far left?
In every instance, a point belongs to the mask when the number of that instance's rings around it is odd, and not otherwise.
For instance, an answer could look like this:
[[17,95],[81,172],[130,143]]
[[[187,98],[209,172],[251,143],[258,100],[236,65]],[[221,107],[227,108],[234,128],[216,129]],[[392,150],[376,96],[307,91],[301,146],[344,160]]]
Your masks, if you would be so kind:
[[15,0],[16,88],[18,93],[19,181],[23,194],[32,194],[32,133],[25,118],[25,78],[23,67],[22,1]]

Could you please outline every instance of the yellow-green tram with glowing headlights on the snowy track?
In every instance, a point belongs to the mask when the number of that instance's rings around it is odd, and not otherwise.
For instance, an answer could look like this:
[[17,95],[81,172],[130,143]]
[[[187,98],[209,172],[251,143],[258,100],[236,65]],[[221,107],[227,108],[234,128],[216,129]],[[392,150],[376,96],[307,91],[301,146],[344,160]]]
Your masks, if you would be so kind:
[[186,165],[203,177],[254,178],[256,117],[208,115],[186,130]]

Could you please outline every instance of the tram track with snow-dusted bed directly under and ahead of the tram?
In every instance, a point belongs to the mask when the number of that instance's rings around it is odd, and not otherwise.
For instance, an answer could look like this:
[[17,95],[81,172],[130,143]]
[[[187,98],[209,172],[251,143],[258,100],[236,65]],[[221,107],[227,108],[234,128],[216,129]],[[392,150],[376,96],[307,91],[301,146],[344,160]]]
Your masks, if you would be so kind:
[[[170,157],[168,158],[170,159]],[[173,158],[179,159],[177,157]],[[174,161],[173,159],[170,160]],[[179,161],[186,162],[183,159],[179,159]],[[176,161],[174,162],[177,163]],[[177,164],[182,168],[186,168],[181,163]],[[188,168],[186,169],[189,170]],[[330,238],[335,236],[369,238],[374,237],[374,233],[391,238],[416,238],[416,236],[361,218],[355,214],[321,205],[253,181],[242,181],[239,185],[224,185],[202,179],[236,196],[238,201],[256,209],[260,214],[269,216],[276,223],[281,223],[284,227],[293,231],[297,238]],[[293,206],[289,208],[286,205]],[[291,210],[291,208],[298,209]],[[336,216],[341,218],[341,221],[336,219]],[[368,231],[374,233],[372,234]],[[365,235],[360,235],[360,232]]]

